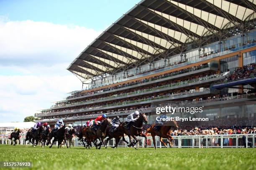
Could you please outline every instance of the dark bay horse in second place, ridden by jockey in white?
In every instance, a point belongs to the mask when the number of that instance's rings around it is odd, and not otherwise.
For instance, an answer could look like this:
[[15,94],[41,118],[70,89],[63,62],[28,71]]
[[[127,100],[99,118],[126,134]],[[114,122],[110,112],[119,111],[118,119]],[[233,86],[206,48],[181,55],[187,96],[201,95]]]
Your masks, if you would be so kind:
[[[144,135],[142,133],[143,122],[147,123],[148,122],[148,118],[145,115],[145,113],[140,113],[138,119],[135,122],[133,122],[133,124],[131,125],[129,130],[124,127],[124,123],[122,123],[122,124],[120,124],[118,126],[118,131],[121,134],[125,133],[126,135],[128,135],[130,143],[131,143],[131,146],[133,146],[135,149],[138,149],[136,147],[136,144],[138,143],[138,139],[136,138],[136,136],[144,137],[145,141],[146,141],[145,148],[147,147],[147,137],[146,137],[146,135]],[[132,143],[131,137],[133,137],[133,139],[136,140],[135,143]]]

